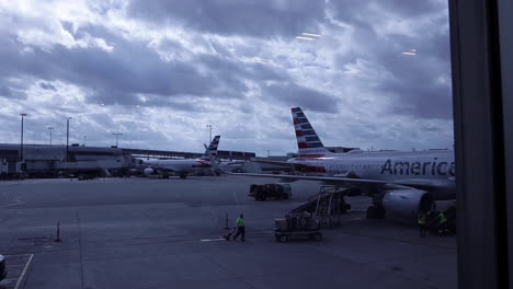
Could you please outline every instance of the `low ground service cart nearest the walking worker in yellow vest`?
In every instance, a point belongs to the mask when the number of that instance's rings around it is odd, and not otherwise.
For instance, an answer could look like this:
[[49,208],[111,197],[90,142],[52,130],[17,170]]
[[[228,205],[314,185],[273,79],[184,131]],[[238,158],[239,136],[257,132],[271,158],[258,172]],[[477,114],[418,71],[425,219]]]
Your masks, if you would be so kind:
[[308,212],[288,213],[285,219],[276,219],[274,222],[274,236],[277,242],[288,242],[296,238],[322,240],[318,219]]

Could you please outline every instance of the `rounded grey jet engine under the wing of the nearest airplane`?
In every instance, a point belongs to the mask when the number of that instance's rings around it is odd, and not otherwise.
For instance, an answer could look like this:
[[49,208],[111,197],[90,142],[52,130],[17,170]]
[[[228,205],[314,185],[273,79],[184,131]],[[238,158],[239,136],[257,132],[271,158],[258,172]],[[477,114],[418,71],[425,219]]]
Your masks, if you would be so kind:
[[381,206],[395,217],[417,219],[419,211],[428,212],[434,209],[435,203],[429,192],[412,187],[400,187],[387,190],[381,199]]

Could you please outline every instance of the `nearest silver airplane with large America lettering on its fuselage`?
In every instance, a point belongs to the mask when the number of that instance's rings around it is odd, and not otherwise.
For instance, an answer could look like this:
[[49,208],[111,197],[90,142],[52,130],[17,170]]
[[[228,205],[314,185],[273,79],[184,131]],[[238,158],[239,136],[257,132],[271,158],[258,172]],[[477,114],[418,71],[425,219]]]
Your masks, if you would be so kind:
[[332,153],[324,148],[305,113],[292,108],[298,157],[286,162],[296,175],[243,174],[280,177],[285,182],[310,180],[330,185],[356,187],[373,198],[367,218],[392,216],[414,218],[429,211],[437,199],[456,198],[454,152],[366,152]]

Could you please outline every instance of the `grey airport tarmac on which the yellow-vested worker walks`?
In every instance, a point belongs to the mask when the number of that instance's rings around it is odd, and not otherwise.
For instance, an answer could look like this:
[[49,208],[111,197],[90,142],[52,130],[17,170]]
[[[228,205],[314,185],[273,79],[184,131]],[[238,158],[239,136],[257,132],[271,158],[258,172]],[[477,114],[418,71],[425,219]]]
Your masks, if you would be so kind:
[[[278,243],[274,219],[316,195],[255,201],[272,180],[98,178],[0,182],[0,289],[456,288],[456,238],[419,238],[413,222],[367,220],[366,197],[320,242]],[[244,215],[247,241],[225,241]],[[57,223],[59,236],[57,238]],[[60,239],[61,242],[55,242]]]

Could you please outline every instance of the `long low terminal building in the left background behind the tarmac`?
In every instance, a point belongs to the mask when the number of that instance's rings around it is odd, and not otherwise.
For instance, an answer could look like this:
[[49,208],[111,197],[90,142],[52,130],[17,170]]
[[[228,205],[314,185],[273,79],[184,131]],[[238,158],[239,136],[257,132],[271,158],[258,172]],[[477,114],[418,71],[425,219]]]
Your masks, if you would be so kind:
[[[29,177],[103,174],[125,175],[136,158],[200,158],[203,153],[117,147],[0,144],[0,174]],[[250,160],[254,152],[218,151],[218,158]]]

